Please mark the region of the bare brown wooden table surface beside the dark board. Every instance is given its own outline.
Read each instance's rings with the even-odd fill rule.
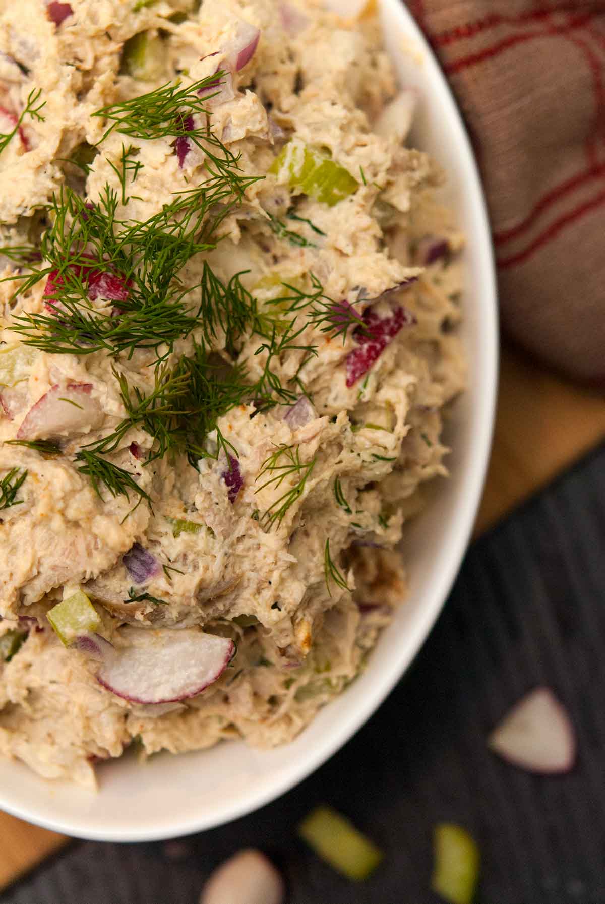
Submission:
[[[506,349],[496,433],[476,534],[605,438],[602,396],[572,386]],[[0,888],[66,839],[0,813]]]

